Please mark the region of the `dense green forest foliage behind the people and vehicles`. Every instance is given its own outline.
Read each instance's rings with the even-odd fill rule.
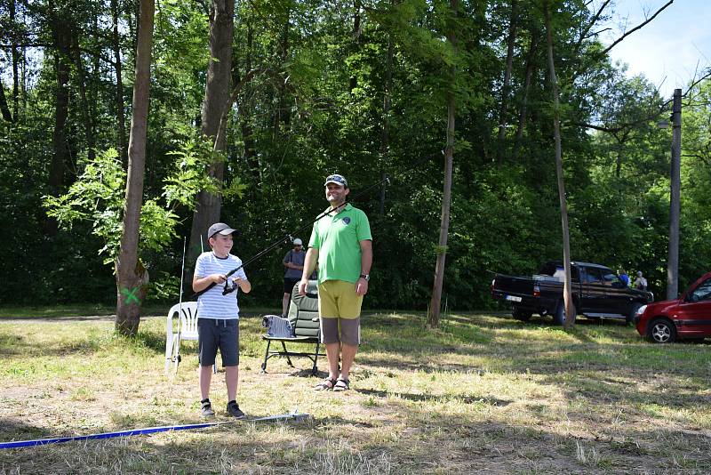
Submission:
[[[644,76],[627,77],[598,40],[613,3],[239,2],[224,153],[215,154],[202,110],[209,18],[226,4],[156,3],[143,189],[151,205],[141,217],[150,235],[140,241],[148,299],[177,302],[183,237],[188,273],[198,246],[189,239],[196,189],[181,183],[223,160],[220,221],[238,229],[233,254],[243,259],[323,211],[327,174],[344,174],[353,194],[392,176],[354,203],[374,237],[365,305],[426,309],[442,252],[448,97],[456,136],[443,305],[491,308],[490,270],[528,273],[562,259],[546,7],[572,259],[643,270],[655,295],[666,294],[671,128],[657,124],[671,103]],[[0,3],[4,304],[116,302],[139,9],[138,0]],[[707,79],[684,89],[680,290],[711,257],[710,96]],[[51,197],[72,190],[94,213],[48,216]],[[173,199],[180,193],[187,199]],[[290,248],[246,269],[254,291],[242,305],[278,307]]]

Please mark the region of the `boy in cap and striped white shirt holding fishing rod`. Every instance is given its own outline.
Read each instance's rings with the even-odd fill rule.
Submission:
[[[237,270],[229,278],[230,270],[242,265],[242,261],[232,250],[232,233],[224,222],[213,224],[207,231],[207,241],[212,252],[200,254],[195,264],[193,291],[200,292],[215,284],[210,290],[197,298],[197,334],[200,360],[200,394],[202,414],[206,417],[215,415],[210,403],[210,382],[212,380],[212,365],[220,348],[222,366],[225,366],[225,383],[228,387],[228,415],[241,418],[244,412],[236,402],[237,379],[239,376],[239,307],[237,292],[241,289],[245,294],[252,290],[252,284],[247,280],[244,270]],[[224,284],[235,293],[222,294]]]

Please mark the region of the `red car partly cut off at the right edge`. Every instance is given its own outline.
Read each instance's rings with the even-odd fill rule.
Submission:
[[[711,272],[676,300],[643,305],[633,321],[637,332],[654,343],[711,336]]]

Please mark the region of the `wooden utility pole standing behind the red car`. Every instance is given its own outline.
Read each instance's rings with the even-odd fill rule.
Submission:
[[[669,198],[669,259],[667,261],[667,300],[673,300],[679,292],[679,214],[681,200],[682,162],[682,90],[674,90],[672,107],[672,161],[671,192]]]

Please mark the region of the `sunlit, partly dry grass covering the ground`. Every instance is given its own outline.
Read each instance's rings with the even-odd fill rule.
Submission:
[[[196,345],[164,375],[163,318],[124,339],[108,318],[18,315],[0,320],[0,441],[202,421]],[[260,318],[243,318],[240,406],[298,407],[310,421],[5,449],[0,473],[704,473],[711,462],[711,345],[653,345],[617,322],[565,333],[451,313],[427,331],[422,314],[375,313],[352,389],[319,393],[306,359],[272,358],[260,374],[261,333]],[[221,372],[212,388],[226,421]]]

